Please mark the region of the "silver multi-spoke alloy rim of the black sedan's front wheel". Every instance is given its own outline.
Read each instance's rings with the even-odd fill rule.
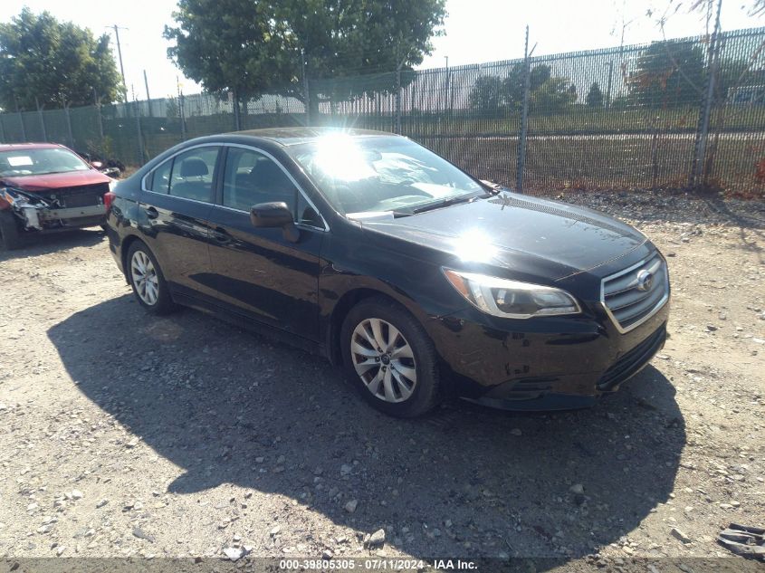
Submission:
[[[359,322],[350,338],[353,367],[364,386],[384,402],[403,402],[415,391],[412,347],[392,324],[381,319]]]

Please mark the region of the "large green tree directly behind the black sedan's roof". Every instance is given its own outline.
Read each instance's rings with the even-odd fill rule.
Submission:
[[[304,100],[303,64],[313,79],[409,71],[431,52],[444,16],[445,0],[179,0],[177,26],[167,26],[165,37],[175,42],[169,57],[207,91]],[[394,89],[395,76],[371,89]],[[320,83],[309,86],[316,110]],[[360,83],[325,83],[324,91],[335,89],[342,97],[370,91]]]

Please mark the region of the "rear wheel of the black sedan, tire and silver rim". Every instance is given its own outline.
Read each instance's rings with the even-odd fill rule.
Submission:
[[[126,263],[133,294],[145,310],[162,315],[177,309],[157,257],[146,244],[140,241],[130,244]]]

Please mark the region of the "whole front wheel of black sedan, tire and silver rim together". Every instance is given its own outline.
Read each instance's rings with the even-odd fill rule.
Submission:
[[[346,375],[380,412],[412,418],[441,403],[444,392],[433,342],[396,302],[359,302],[343,321],[340,344]]]

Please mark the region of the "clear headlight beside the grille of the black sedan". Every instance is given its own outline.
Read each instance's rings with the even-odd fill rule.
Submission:
[[[452,286],[473,306],[492,316],[528,319],[581,312],[579,303],[566,291],[510,281],[485,274],[443,269]]]

